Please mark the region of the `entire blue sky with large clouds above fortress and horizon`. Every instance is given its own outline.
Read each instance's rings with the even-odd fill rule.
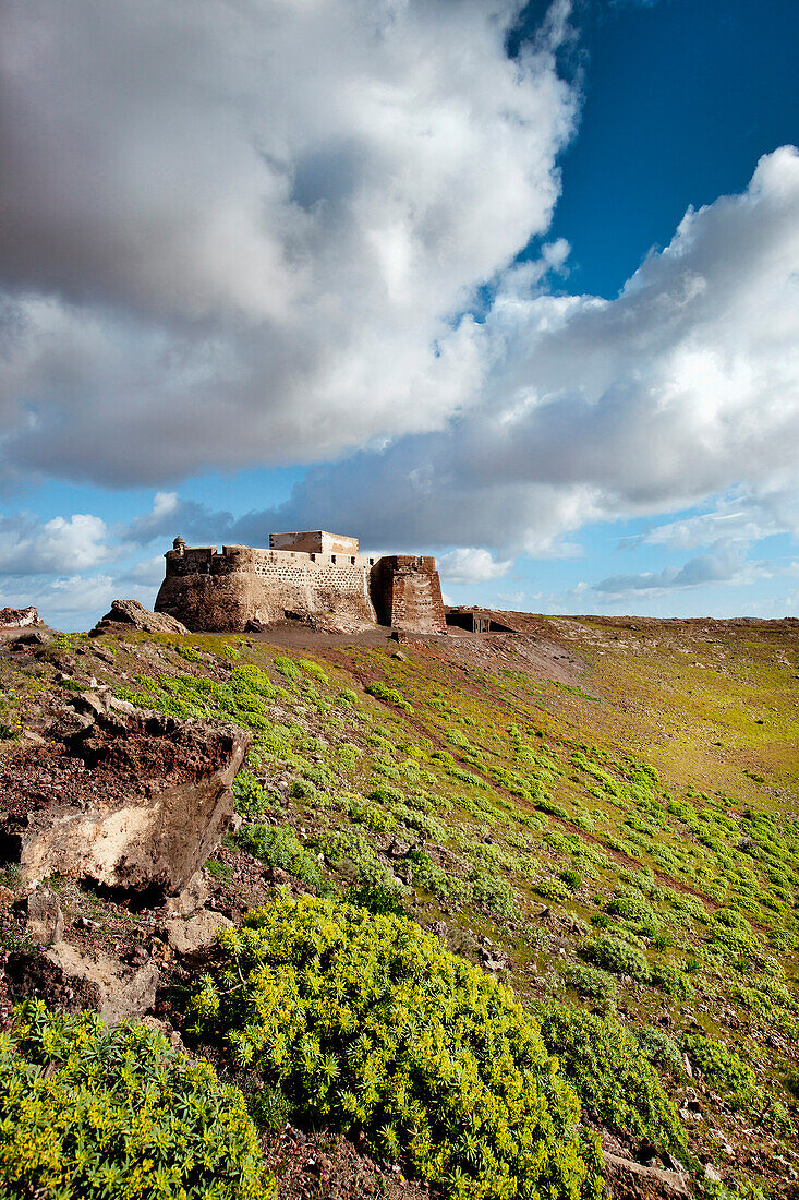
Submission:
[[[799,7],[5,0],[0,607],[328,528],[799,616]]]

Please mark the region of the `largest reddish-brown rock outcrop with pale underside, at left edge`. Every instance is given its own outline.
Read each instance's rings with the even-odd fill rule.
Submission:
[[[233,816],[230,785],[250,734],[109,695],[79,694],[78,704],[83,712],[52,731],[64,744],[0,763],[2,857],[29,880],[65,875],[179,893]]]

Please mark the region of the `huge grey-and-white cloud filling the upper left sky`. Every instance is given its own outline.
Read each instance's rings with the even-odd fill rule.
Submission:
[[[8,0],[0,449],[120,485],[322,460],[471,403],[542,233],[569,5]],[[555,254],[557,258],[557,254]]]

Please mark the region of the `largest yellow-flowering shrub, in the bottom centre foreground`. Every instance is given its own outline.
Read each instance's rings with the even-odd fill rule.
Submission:
[[[452,1200],[601,1195],[596,1144],[535,1019],[414,922],[283,896],[220,942],[197,1032],[311,1120],[360,1128]]]

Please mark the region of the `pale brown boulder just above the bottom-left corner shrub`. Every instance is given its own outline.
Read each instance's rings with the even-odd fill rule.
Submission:
[[[114,1024],[152,1008],[158,968],[152,962],[128,968],[103,950],[82,952],[56,942],[44,954],[10,954],[6,977],[14,1001],[46,997],[71,1013],[94,1008]]]

